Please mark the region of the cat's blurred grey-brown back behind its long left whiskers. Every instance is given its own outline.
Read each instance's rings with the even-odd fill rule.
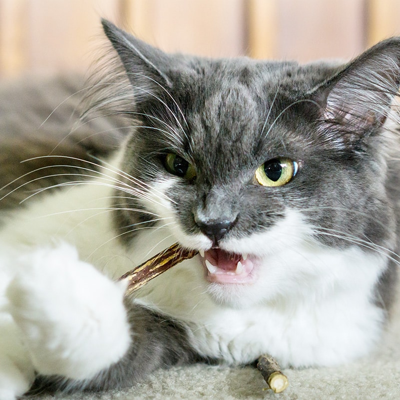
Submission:
[[[86,87],[78,74],[0,82],[0,209],[74,173],[84,178],[85,169],[98,170],[98,159],[118,148],[119,117],[79,121]]]

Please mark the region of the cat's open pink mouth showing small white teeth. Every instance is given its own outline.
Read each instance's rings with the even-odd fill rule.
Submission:
[[[245,284],[254,281],[255,260],[247,254],[234,254],[220,248],[200,252],[209,282]]]

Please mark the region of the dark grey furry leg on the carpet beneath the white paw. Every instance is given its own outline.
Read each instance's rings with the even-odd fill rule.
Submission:
[[[191,348],[186,330],[179,323],[134,303],[126,302],[126,307],[132,327],[132,342],[117,363],[83,381],[40,375],[30,394],[42,393],[43,390],[70,392],[126,388],[159,368],[211,361]]]

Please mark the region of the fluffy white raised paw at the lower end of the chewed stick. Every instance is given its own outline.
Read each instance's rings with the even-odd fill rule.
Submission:
[[[17,263],[7,297],[39,373],[87,379],[124,355],[130,343],[124,284],[79,260],[67,244]]]

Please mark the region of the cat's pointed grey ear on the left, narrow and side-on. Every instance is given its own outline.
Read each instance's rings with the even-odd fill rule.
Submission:
[[[101,23],[122,61],[137,103],[173,86],[169,72],[179,66],[176,57],[139,40],[106,19]]]

